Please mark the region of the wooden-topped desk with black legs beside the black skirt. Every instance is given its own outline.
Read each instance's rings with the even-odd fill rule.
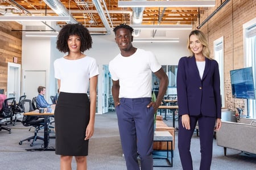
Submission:
[[[44,117],[44,147],[43,148],[31,148],[31,149],[27,149],[32,151],[32,150],[40,150],[40,151],[54,151],[55,148],[49,148],[48,144],[49,144],[49,122],[48,122],[48,118],[54,115],[54,109],[52,109],[51,113],[39,113],[39,110],[35,110],[32,112],[27,112],[24,113],[23,115],[25,116],[40,116],[40,117]]]

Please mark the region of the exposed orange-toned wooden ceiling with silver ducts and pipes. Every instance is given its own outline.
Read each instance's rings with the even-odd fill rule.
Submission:
[[[1,0],[0,0],[1,1]],[[131,5],[135,2],[148,2],[146,0],[130,0]],[[170,0],[173,1],[173,0]],[[201,0],[206,1],[206,0]],[[214,1],[214,0],[210,0]],[[224,1],[224,0],[222,0]],[[228,0],[226,0],[228,1]],[[225,1],[225,2],[226,2]],[[49,23],[56,26],[59,30],[63,25],[67,23],[84,23],[84,25],[90,28],[90,33],[104,33],[109,35],[112,33],[113,28],[121,23],[127,23],[136,26],[142,25],[191,25],[199,21],[198,15],[204,14],[205,7],[119,7],[120,0],[74,0],[74,1],[61,1],[61,0],[5,0],[0,4],[0,14],[2,15],[19,15],[19,16],[42,16],[42,15],[60,15],[59,17],[70,18],[65,22]],[[181,1],[180,1],[181,2]],[[87,8],[85,8],[86,6]],[[103,10],[102,10],[103,9]],[[15,18],[14,18],[15,19]],[[145,21],[144,21],[145,19]],[[42,23],[46,24],[47,20],[42,20]],[[93,23],[92,23],[93,22]],[[22,22],[22,24],[34,24],[28,22]],[[37,24],[37,23],[35,23]],[[50,25],[47,25],[49,28]],[[100,28],[100,29],[98,29]],[[135,28],[135,27],[134,27]],[[51,28],[55,31],[55,28]],[[136,29],[134,35],[147,36],[147,31],[143,29]],[[154,34],[150,34],[151,37],[158,32],[158,29],[154,30]]]

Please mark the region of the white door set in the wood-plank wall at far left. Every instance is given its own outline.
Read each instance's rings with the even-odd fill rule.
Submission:
[[[20,96],[20,64],[8,63],[7,97],[15,97],[19,101]]]

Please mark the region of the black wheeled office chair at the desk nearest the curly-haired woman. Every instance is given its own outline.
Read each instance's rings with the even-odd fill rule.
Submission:
[[[24,99],[24,100],[21,101],[21,103],[22,103],[24,113],[34,111],[34,108],[32,106],[32,101],[30,99]],[[38,116],[23,116],[22,124],[23,124],[23,126],[32,126],[32,127],[34,127],[35,128],[35,133],[34,133],[34,136],[28,137],[26,139],[23,139],[22,141],[19,141],[19,145],[22,145],[22,142],[24,142],[24,141],[30,141],[31,139],[33,139],[30,146],[34,146],[34,142],[37,139],[44,140],[43,137],[38,136],[38,131],[40,129],[43,129],[43,126],[44,126],[44,119],[43,118],[40,118]]]

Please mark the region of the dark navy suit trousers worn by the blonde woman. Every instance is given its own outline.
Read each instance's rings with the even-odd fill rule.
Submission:
[[[184,170],[192,170],[193,163],[190,152],[191,138],[198,121],[200,131],[200,170],[210,170],[212,163],[213,133],[216,122],[215,117],[190,116],[190,130],[183,128],[181,117],[179,119],[178,148],[181,164]]]

